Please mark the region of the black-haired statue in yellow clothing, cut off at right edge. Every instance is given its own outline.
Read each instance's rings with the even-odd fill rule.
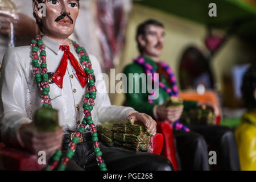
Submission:
[[[241,170],[256,170],[256,66],[252,65],[242,82],[242,97],[247,111],[236,130]]]

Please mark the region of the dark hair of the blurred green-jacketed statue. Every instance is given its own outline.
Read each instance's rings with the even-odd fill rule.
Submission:
[[[143,49],[141,47],[141,45],[139,44],[139,40],[138,37],[140,35],[145,35],[146,34],[146,28],[150,25],[154,25],[154,26],[158,26],[158,27],[164,27],[163,23],[159,22],[158,20],[155,19],[148,19],[145,22],[139,24],[138,28],[137,28],[137,34],[136,34],[136,41],[137,41],[137,46],[139,49],[139,52],[142,53]]]

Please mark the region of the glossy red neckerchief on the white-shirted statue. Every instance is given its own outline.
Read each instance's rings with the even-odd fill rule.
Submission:
[[[69,51],[69,46],[60,46],[60,49],[64,51],[64,55],[60,61],[60,65],[57,68],[56,72],[53,74],[52,79],[55,81],[56,85],[59,86],[59,88],[62,89],[63,87],[63,77],[67,71],[68,66],[68,59],[70,60],[70,63],[72,67],[76,71],[76,76],[82,85],[82,87],[85,86],[87,76],[84,70],[82,69],[79,62],[76,60],[76,57]]]

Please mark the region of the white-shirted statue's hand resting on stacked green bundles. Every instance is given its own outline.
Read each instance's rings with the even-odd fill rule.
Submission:
[[[150,130],[152,135],[156,134],[156,122],[155,120],[145,113],[132,113],[127,119],[131,119],[131,123],[134,125],[143,124],[146,130]]]

